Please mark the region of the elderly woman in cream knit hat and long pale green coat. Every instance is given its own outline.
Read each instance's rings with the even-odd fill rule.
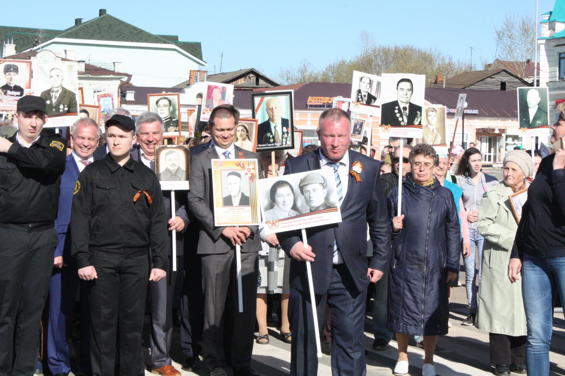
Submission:
[[[532,157],[521,150],[511,151],[504,158],[503,169],[503,183],[489,188],[479,206],[477,229],[485,243],[475,326],[489,333],[490,364],[495,366],[495,374],[510,375],[510,371],[526,373],[526,317],[521,281],[512,284],[507,277],[518,229],[509,196],[528,187]]]

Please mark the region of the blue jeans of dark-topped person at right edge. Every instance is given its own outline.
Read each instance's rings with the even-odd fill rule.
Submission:
[[[524,254],[522,297],[528,324],[528,374],[549,374],[549,343],[553,332],[555,297],[565,297],[565,257],[542,259]]]

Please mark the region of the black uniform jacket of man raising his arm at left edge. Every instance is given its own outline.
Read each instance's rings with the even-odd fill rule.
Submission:
[[[67,157],[65,140],[41,135],[24,148],[16,134],[8,138],[13,143],[8,152],[0,153],[0,225],[18,224],[28,232],[52,228]]]

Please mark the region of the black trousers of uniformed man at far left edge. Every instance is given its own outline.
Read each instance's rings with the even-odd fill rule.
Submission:
[[[0,376],[33,374],[56,246],[54,228],[0,228]]]

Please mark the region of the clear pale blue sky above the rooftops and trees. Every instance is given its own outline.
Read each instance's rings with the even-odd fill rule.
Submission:
[[[564,1],[564,0],[558,0]],[[553,10],[554,0],[540,0],[538,15]],[[94,5],[95,4],[95,5]],[[206,6],[211,6],[206,8]],[[438,47],[456,59],[492,61],[494,26],[506,12],[533,19],[535,0],[475,1],[98,1],[6,2],[0,25],[66,29],[75,18],[98,16],[99,8],[154,34],[178,35],[202,42],[207,70],[255,68],[275,76],[302,59],[324,68],[359,51],[359,35],[367,30],[377,44]],[[541,18],[540,18],[541,20]],[[17,46],[16,46],[17,48]],[[417,56],[415,56],[417,58]],[[107,61],[105,63],[110,63]],[[380,72],[374,72],[380,73]]]

